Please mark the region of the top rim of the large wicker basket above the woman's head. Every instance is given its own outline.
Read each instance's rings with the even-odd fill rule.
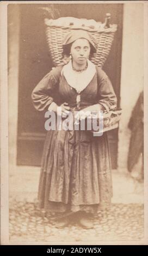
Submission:
[[[79,19],[81,20],[81,19]],[[47,27],[52,27],[52,28],[61,28],[61,29],[82,29],[84,31],[88,31],[88,32],[105,32],[105,33],[109,33],[109,32],[116,32],[117,30],[117,25],[116,24],[112,24],[110,25],[109,28],[104,28],[104,27],[101,27],[99,29],[96,29],[96,28],[91,28],[91,27],[88,27],[88,26],[75,26],[75,25],[65,25],[65,26],[56,26],[54,24],[51,24],[51,21],[53,21],[53,19],[44,19],[44,22],[45,22],[45,25]],[[101,22],[97,22],[99,25],[104,25],[104,23],[101,23]]]

